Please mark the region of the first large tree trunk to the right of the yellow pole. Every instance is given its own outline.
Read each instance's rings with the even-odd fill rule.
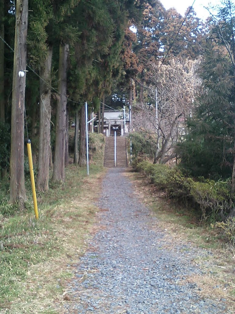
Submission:
[[[38,152],[38,176],[37,189],[47,191],[49,189],[50,169],[50,119],[51,119],[51,61],[52,48],[49,47],[44,65],[40,69],[40,124],[39,124],[39,152]],[[46,84],[46,83],[48,84]]]

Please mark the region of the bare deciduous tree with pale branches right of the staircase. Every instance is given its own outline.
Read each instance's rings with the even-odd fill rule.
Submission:
[[[187,132],[186,118],[191,116],[200,83],[196,75],[199,62],[175,57],[160,68],[151,62],[150,84],[145,85],[148,103],[135,105],[133,127],[156,134],[154,162],[165,163],[176,157],[173,148]]]

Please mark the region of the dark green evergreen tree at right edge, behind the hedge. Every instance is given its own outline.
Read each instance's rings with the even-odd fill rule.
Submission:
[[[194,176],[231,176],[234,134],[233,69],[227,51],[208,43],[200,67],[201,96],[178,144],[181,167]]]

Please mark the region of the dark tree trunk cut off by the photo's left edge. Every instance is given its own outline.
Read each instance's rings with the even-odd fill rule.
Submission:
[[[4,39],[4,0],[0,0],[0,36]],[[5,123],[4,42],[0,40],[0,121]]]

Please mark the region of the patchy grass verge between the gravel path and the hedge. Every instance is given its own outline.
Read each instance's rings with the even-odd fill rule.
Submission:
[[[210,225],[202,224],[199,214],[185,211],[185,208],[168,200],[145,176],[132,171],[126,176],[133,182],[135,196],[158,218],[153,229],[156,232],[165,230],[164,248],[174,250],[177,245],[186,244],[185,250],[198,248],[200,251],[196,258],[192,256],[192,263],[203,273],[189,276],[186,281],[196,283],[202,298],[213,295],[225,302],[231,313],[235,313],[234,246],[229,245],[224,236]]]

